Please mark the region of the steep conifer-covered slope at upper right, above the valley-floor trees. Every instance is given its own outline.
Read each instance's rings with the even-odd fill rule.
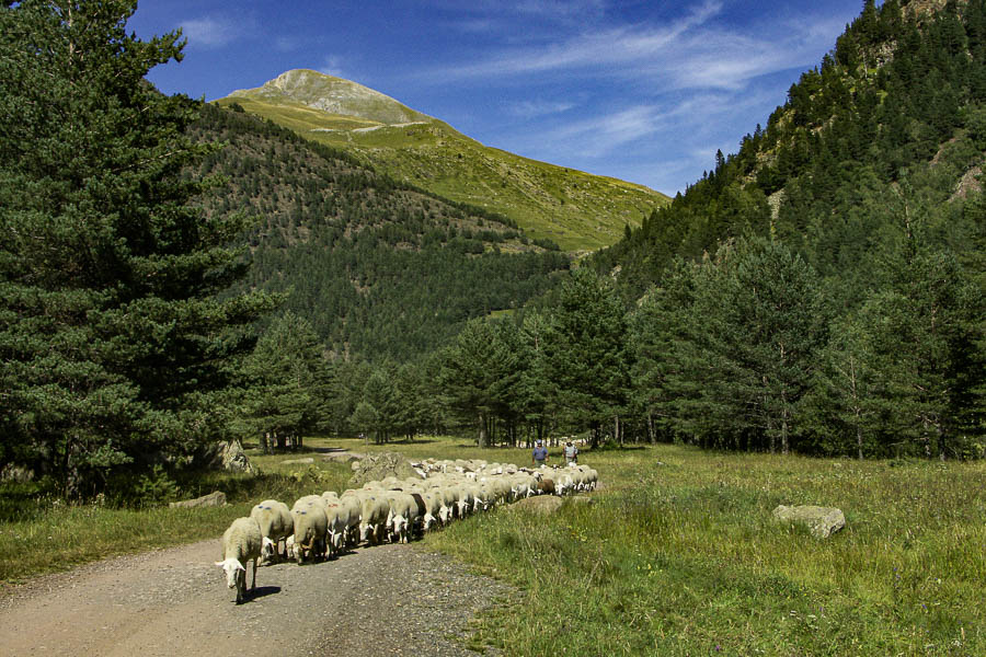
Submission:
[[[905,215],[963,257],[982,252],[982,221],[961,201],[979,189],[986,150],[986,14],[979,0],[936,4],[865,2],[766,129],[720,152],[598,267],[619,265],[639,296],[675,256],[770,233],[858,297]]]

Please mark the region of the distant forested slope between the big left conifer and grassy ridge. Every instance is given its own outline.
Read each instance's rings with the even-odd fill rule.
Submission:
[[[199,138],[226,142],[199,171],[226,184],[202,203],[257,218],[244,285],[289,292],[285,308],[335,354],[411,359],[470,318],[523,306],[569,266],[509,219],[394,183],[254,116],[202,113]]]

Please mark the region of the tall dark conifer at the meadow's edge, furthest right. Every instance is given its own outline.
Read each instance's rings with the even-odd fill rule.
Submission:
[[[930,247],[919,220],[890,256],[887,287],[864,307],[874,334],[883,403],[907,447],[961,457],[982,434],[986,304],[954,254]]]

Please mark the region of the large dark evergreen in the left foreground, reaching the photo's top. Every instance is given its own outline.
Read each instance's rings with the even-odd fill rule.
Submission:
[[[206,217],[182,170],[185,97],[144,79],[179,33],[126,33],[134,0],[0,7],[0,422],[4,457],[68,494],[121,465],[223,436],[243,330],[271,307],[219,300],[242,217]]]

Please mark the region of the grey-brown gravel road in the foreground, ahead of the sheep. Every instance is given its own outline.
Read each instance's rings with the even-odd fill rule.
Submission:
[[[237,606],[218,553],[215,539],[16,587],[0,597],[0,655],[475,655],[462,643],[469,619],[516,596],[395,544],[261,567],[250,601]]]

